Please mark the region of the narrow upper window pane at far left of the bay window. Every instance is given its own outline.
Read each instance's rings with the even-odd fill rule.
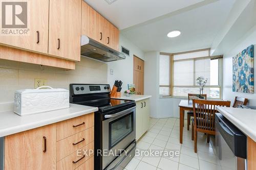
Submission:
[[[168,55],[160,55],[159,59],[159,85],[169,85],[169,64],[170,57]]]

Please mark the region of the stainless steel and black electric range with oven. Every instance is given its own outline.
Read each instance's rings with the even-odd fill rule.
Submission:
[[[135,101],[110,98],[108,84],[70,84],[70,103],[98,107],[94,169],[119,170],[135,155]]]

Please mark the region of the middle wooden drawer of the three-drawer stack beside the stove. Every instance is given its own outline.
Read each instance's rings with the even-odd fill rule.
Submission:
[[[94,141],[94,127],[57,142],[57,161]]]

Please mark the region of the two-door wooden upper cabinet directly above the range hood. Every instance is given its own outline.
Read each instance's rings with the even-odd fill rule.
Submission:
[[[119,30],[82,1],[81,34],[119,50]]]

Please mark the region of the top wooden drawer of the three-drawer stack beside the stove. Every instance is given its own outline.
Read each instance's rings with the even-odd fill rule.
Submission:
[[[94,126],[94,113],[57,123],[57,141]]]

